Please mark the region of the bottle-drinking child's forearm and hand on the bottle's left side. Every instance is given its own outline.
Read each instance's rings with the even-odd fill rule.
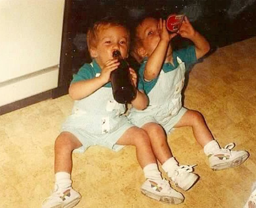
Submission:
[[[120,63],[117,59],[109,60],[101,70],[101,75],[93,79],[77,81],[69,86],[69,96],[73,100],[80,100],[91,95],[104,84],[109,82],[110,73],[115,70]]]

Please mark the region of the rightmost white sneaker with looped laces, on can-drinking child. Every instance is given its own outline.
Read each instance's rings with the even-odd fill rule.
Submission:
[[[209,165],[214,171],[236,167],[249,157],[249,153],[244,150],[232,151],[234,143],[226,145],[224,148],[221,148],[217,153],[210,154]]]

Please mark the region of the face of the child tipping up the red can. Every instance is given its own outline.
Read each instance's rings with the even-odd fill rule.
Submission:
[[[158,20],[146,18],[136,29],[137,36],[142,41],[145,56],[150,56],[160,41]]]

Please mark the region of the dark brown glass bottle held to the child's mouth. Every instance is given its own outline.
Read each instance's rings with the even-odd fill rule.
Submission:
[[[122,58],[120,51],[113,51],[113,58],[120,62],[110,75],[114,99],[118,103],[130,103],[137,91],[131,79],[129,64]]]

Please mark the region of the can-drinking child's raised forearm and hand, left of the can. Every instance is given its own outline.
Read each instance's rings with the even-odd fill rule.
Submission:
[[[144,71],[144,79],[147,81],[155,79],[162,69],[163,62],[166,57],[166,51],[169,46],[170,39],[176,36],[176,33],[169,34],[166,29],[166,21],[159,19],[158,23],[158,32],[160,35],[160,41],[152,52],[152,54],[148,57],[148,61],[145,66]],[[152,34],[155,35],[155,34]]]

